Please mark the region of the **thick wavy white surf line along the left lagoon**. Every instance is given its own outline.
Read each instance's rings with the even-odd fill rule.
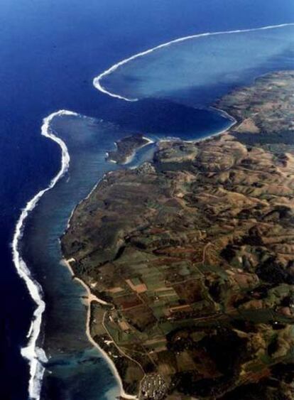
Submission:
[[[39,400],[40,399],[40,390],[43,379],[43,374],[45,368],[43,367],[43,363],[47,361],[47,357],[42,348],[37,346],[38,336],[40,334],[40,325],[42,322],[42,315],[45,310],[45,302],[43,301],[43,290],[33,276],[31,275],[31,271],[28,269],[25,261],[21,256],[20,250],[20,242],[23,237],[23,227],[26,222],[26,218],[30,214],[30,212],[36,207],[38,201],[43,196],[45,192],[52,189],[55,184],[60,180],[62,175],[65,174],[69,165],[70,165],[70,154],[67,151],[67,146],[62,139],[55,136],[53,132],[50,130],[50,122],[54,117],[59,115],[75,115],[75,112],[70,112],[67,110],[60,110],[58,112],[53,112],[48,117],[43,119],[43,125],[41,128],[41,134],[43,136],[48,137],[49,139],[55,141],[61,148],[62,151],[62,159],[61,159],[61,168],[55,178],[50,181],[48,188],[40,190],[27,204],[26,207],[22,210],[20,217],[18,218],[18,222],[16,223],[16,228],[13,234],[12,241],[12,255],[13,255],[13,263],[16,266],[16,271],[18,275],[25,281],[28,291],[33,298],[33,301],[36,303],[36,310],[33,313],[33,319],[31,322],[31,327],[28,330],[28,345],[21,349],[21,355],[28,360],[29,368],[30,368],[30,380],[28,382],[28,396],[31,400]]]

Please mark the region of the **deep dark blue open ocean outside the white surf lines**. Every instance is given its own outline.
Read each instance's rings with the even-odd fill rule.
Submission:
[[[93,77],[121,59],[180,36],[290,21],[291,0],[1,1],[1,398],[27,399],[28,369],[19,350],[26,343],[33,304],[11,262],[10,243],[21,207],[60,168],[60,148],[40,136],[43,117],[65,108],[126,128],[163,129],[170,123],[170,110],[174,116],[173,107],[154,107],[153,102],[126,106],[97,92]],[[189,131],[195,121],[187,125]],[[202,119],[204,131],[214,128]],[[173,129],[169,126],[165,133]]]

